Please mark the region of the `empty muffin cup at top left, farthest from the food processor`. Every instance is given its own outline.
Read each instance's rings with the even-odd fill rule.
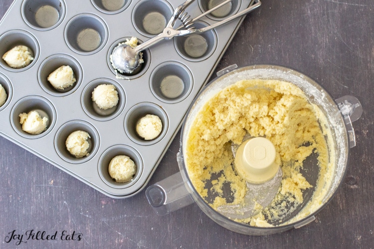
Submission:
[[[36,30],[50,30],[65,17],[63,0],[24,0],[21,7],[23,20]]]

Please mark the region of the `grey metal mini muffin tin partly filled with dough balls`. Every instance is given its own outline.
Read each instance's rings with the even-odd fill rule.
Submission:
[[[248,7],[250,0],[233,0],[226,9],[195,23],[211,25]],[[110,63],[113,48],[126,38],[144,42],[163,30],[180,0],[15,0],[0,21],[0,56],[15,45],[26,45],[34,60],[10,68],[0,60],[0,84],[7,100],[0,107],[0,134],[71,174],[98,191],[126,198],[147,184],[189,105],[210,78],[242,19],[199,36],[175,37],[143,51],[141,70],[116,78]],[[187,12],[192,17],[207,10],[208,0],[196,0]],[[223,15],[223,16],[220,16]],[[177,23],[178,24],[178,23]],[[180,25],[180,23],[178,24]],[[76,83],[56,90],[48,75],[69,65]],[[119,103],[108,112],[95,108],[91,94],[100,84],[113,84]],[[24,132],[20,113],[37,110],[49,118],[38,135]],[[160,117],[161,134],[146,141],[136,133],[137,121]],[[75,158],[65,147],[74,130],[85,130],[89,155]],[[109,176],[110,160],[119,154],[136,164],[134,178],[117,183]]]

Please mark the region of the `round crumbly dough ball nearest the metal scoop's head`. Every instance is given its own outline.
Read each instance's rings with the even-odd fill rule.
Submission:
[[[104,110],[115,107],[118,104],[118,100],[116,87],[111,84],[99,85],[92,92],[92,101]]]

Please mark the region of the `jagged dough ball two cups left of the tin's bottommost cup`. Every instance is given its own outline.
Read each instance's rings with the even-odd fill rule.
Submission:
[[[31,111],[29,113],[19,114],[19,123],[22,124],[22,130],[37,135],[46,130],[48,124],[48,118],[41,118],[37,111]]]

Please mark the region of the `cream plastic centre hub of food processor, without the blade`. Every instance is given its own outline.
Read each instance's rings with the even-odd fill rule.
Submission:
[[[236,151],[235,167],[245,181],[260,184],[272,179],[279,169],[274,144],[265,137],[244,141]]]

